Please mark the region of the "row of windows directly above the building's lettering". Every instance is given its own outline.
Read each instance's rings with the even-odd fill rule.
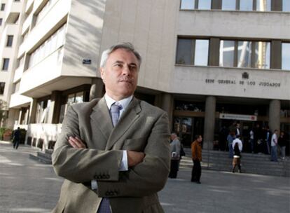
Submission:
[[[270,69],[271,43],[220,40],[220,67]],[[209,39],[178,39],[176,64],[207,66]],[[282,69],[290,70],[290,43],[282,43]]]

